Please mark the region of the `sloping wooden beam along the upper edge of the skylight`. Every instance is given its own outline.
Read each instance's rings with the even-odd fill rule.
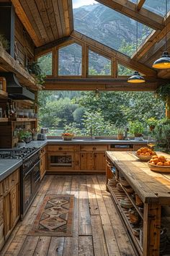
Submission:
[[[147,9],[137,10],[136,4],[128,0],[97,0],[100,4],[114,9],[117,12],[137,20],[153,30],[162,30],[164,28],[164,18]]]

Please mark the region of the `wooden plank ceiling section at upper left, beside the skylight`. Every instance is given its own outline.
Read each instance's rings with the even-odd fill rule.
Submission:
[[[63,38],[73,30],[71,0],[12,0],[12,3],[35,46]]]

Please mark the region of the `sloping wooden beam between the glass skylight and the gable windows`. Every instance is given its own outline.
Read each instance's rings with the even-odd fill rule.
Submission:
[[[73,31],[73,33],[71,33],[71,38],[76,38],[76,40],[79,40],[81,43],[86,43],[88,46],[91,46],[92,48],[96,49],[96,51],[99,50],[103,52],[103,54],[106,56],[115,57],[117,61],[123,63],[126,67],[135,69],[148,76],[157,76],[157,72],[155,70],[146,67],[145,65],[140,64],[138,61],[130,59],[129,56],[121,54],[119,51],[109,48],[108,46],[104,46],[102,43],[99,43],[98,41],[91,39],[86,35],[83,35],[75,30]]]

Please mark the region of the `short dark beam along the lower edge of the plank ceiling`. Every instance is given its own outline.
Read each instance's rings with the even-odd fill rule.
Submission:
[[[39,47],[35,48],[35,56],[37,57],[42,54],[45,54],[46,52],[50,51],[50,49],[52,49],[53,47],[59,46],[62,43],[68,42],[69,40],[71,40],[70,36],[65,36],[63,38],[53,40],[50,43],[46,43],[43,46],[39,46]]]

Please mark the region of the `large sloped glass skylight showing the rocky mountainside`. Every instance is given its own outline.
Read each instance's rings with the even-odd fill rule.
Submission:
[[[117,51],[131,56],[136,51],[137,22],[97,1],[77,5],[73,0],[74,29]],[[90,0],[88,0],[88,3]],[[138,46],[153,30],[138,22]]]

